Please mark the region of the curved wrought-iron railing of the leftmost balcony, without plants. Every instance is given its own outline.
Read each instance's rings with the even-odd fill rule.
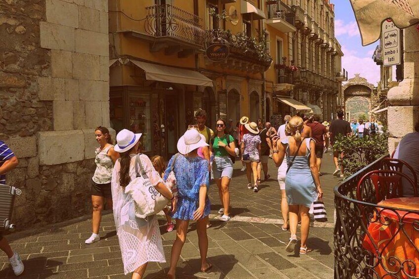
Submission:
[[[203,45],[203,19],[172,5],[146,7],[145,31],[156,38],[173,38]]]

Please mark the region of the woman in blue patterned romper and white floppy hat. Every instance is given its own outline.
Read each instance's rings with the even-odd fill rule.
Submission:
[[[186,241],[190,220],[197,222],[198,246],[201,254],[201,272],[207,272],[212,265],[207,261],[208,237],[207,223],[210,215],[210,199],[207,189],[210,184],[208,160],[198,156],[197,150],[207,146],[205,137],[195,129],[189,129],[177,142],[180,155],[168,163],[167,179],[174,161],[173,172],[177,181],[176,239],[171,248],[168,278],[176,278],[176,265]]]

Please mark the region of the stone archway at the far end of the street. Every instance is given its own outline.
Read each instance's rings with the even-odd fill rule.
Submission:
[[[354,78],[348,80],[342,88],[346,120],[358,120],[362,114],[370,118],[373,90],[374,85],[359,74],[355,74]]]

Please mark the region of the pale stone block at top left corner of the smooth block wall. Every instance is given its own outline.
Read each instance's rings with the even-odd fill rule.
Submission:
[[[46,0],[46,20],[70,27],[79,27],[78,6],[68,1]]]

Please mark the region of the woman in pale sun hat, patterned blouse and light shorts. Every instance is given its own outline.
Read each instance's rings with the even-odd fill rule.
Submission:
[[[249,133],[243,136],[240,148],[242,150],[242,159],[246,163],[246,175],[249,182],[248,188],[253,189],[253,192],[257,193],[259,191],[257,187],[257,164],[260,161],[261,151],[259,129],[255,122],[247,123],[245,127]],[[253,187],[251,186],[251,172],[253,172]]]

